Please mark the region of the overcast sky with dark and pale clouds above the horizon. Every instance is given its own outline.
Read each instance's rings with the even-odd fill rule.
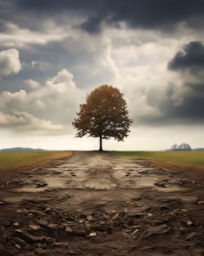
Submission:
[[[104,149],[204,147],[203,0],[0,0],[0,148],[98,149],[71,121],[117,86],[133,125]]]

